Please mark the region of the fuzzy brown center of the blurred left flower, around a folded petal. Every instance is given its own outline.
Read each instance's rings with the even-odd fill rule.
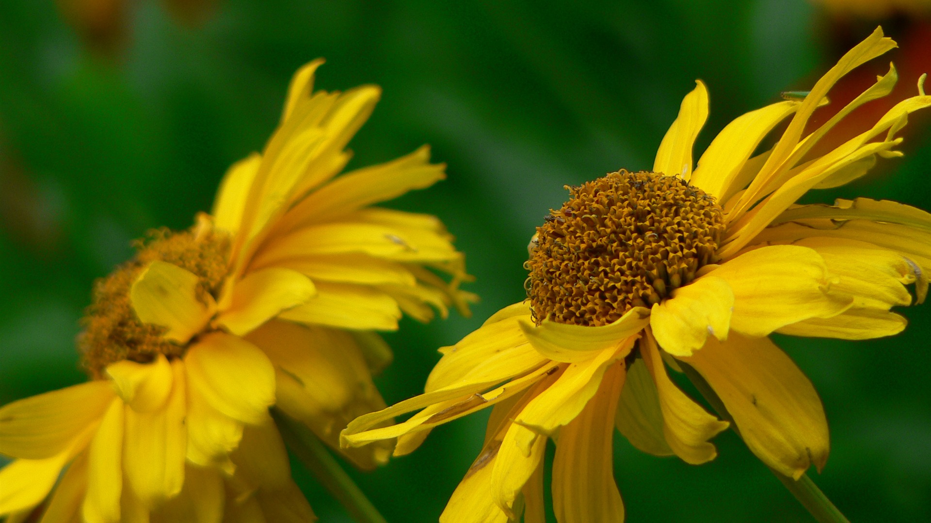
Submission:
[[[228,272],[230,237],[209,224],[200,223],[187,231],[150,231],[135,242],[136,257],[94,284],[93,298],[78,336],[81,364],[91,378],[99,379],[111,363],[128,359],[147,363],[162,354],[182,356],[186,345],[162,337],[164,327],[142,323],[129,298],[129,291],[142,270],[151,262],[173,263],[197,275],[197,295],[218,297]]]

